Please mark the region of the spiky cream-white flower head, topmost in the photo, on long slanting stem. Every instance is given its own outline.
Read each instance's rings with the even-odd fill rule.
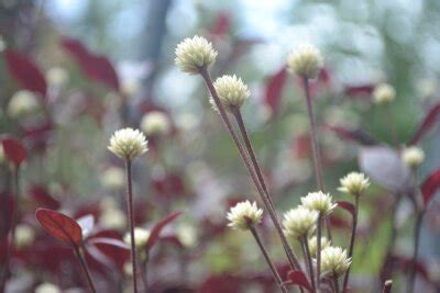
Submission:
[[[176,47],[176,65],[190,75],[199,74],[202,67],[212,65],[216,58],[217,52],[212,44],[202,36],[187,37]]]

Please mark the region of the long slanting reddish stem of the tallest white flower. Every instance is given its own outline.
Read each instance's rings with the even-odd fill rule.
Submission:
[[[211,80],[211,77],[210,77],[208,70],[205,67],[200,68],[200,75],[204,78],[204,80],[205,80],[205,82],[206,82],[206,84],[208,87],[208,90],[212,95],[212,99],[213,99],[213,101],[215,101],[215,103],[216,103],[216,105],[217,105],[217,108],[219,110],[220,116],[221,116],[221,119],[222,119],[222,121],[223,121],[229,134],[231,135],[232,140],[235,144],[237,149],[239,150],[240,157],[242,158],[242,160],[243,160],[243,162],[244,162],[244,165],[245,165],[245,167],[246,167],[246,169],[248,169],[248,171],[249,171],[249,173],[250,173],[250,176],[252,178],[252,181],[254,182],[254,184],[255,184],[255,187],[256,187],[256,189],[258,191],[258,194],[262,198],[263,203],[266,206],[266,210],[267,210],[267,212],[268,212],[268,214],[271,216],[271,219],[274,223],[275,229],[276,229],[276,232],[278,233],[278,235],[280,237],[280,240],[283,243],[284,250],[286,251],[287,259],[289,261],[290,267],[294,270],[301,270],[301,268],[299,266],[299,262],[298,262],[294,251],[292,250],[292,247],[289,246],[286,236],[283,233],[283,228],[282,228],[282,226],[279,224],[279,219],[276,216],[274,209],[272,209],[272,204],[270,202],[268,195],[263,191],[263,189],[262,189],[262,187],[261,187],[261,184],[260,184],[260,182],[257,180],[257,177],[256,177],[256,174],[254,172],[254,169],[251,167],[251,162],[250,162],[250,160],[248,158],[248,155],[244,153],[243,146],[241,145],[241,143],[240,143],[240,140],[239,140],[239,138],[238,138],[238,136],[237,136],[237,134],[235,134],[235,132],[234,132],[234,129],[232,127],[232,124],[231,124],[231,122],[230,122],[230,120],[228,117],[228,114],[226,113],[226,110],[224,110],[223,105],[220,102],[220,98],[217,94],[216,88],[212,84],[212,80]]]

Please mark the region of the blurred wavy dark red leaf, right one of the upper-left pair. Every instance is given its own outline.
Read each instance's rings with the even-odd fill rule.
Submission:
[[[87,77],[119,91],[117,71],[107,57],[89,52],[79,41],[68,37],[62,40],[62,46],[73,55]]]

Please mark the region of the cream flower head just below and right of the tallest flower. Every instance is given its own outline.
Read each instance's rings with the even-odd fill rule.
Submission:
[[[240,108],[251,94],[248,86],[235,75],[219,77],[213,82],[213,87],[216,88],[221,104],[228,111],[231,111],[233,108]],[[210,101],[213,109],[217,110],[212,97]]]

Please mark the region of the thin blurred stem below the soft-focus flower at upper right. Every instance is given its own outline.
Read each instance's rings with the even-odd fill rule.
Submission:
[[[323,176],[322,176],[322,161],[321,155],[319,151],[318,145],[318,131],[315,122],[314,116],[314,105],[311,104],[311,95],[310,95],[310,87],[309,87],[309,79],[307,77],[302,78],[304,91],[306,95],[306,104],[307,104],[307,116],[309,117],[309,125],[310,125],[310,142],[311,142],[311,153],[314,157],[314,166],[315,166],[315,176],[317,180],[317,187],[320,191],[326,192],[326,187],[323,183]],[[326,217],[326,227],[327,227],[327,237],[329,241],[332,241],[331,229],[330,229],[330,218]]]

